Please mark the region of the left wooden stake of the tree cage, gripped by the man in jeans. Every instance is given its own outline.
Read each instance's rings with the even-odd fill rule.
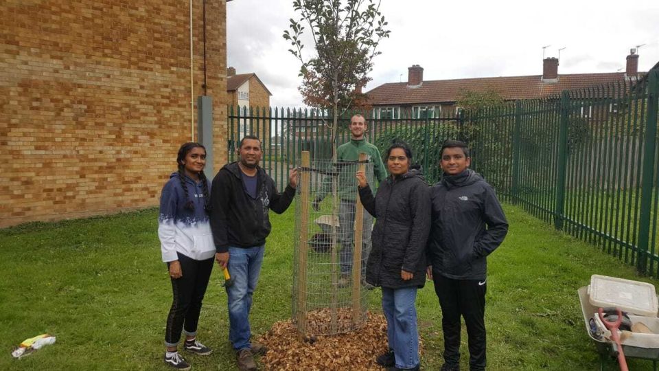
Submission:
[[[302,151],[302,168],[300,169],[300,240],[299,261],[297,265],[298,275],[298,303],[297,303],[297,328],[304,335],[307,325],[307,256],[308,225],[309,225],[309,193],[311,188],[310,169],[311,161],[309,151]]]

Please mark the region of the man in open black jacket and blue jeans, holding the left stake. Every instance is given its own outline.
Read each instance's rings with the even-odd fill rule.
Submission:
[[[256,370],[253,355],[264,346],[250,342],[249,311],[259,280],[266,237],[270,234],[268,211],[286,211],[295,196],[297,170],[290,172],[288,186],[277,193],[275,181],[259,167],[261,141],[247,135],[238,148],[240,161],[225,165],[211,187],[211,230],[216,261],[227,267],[233,284],[227,287],[229,341],[240,370]]]

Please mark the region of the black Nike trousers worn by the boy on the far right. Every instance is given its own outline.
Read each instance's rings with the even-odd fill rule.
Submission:
[[[485,370],[485,280],[453,280],[432,272],[435,293],[441,306],[444,362],[460,363],[460,317],[465,318],[470,370]]]

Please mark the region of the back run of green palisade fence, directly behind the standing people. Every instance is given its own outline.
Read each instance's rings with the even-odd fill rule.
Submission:
[[[244,135],[256,135],[262,139],[264,157],[261,165],[283,189],[288,172],[298,164],[302,150],[309,150],[314,159],[331,159],[332,142],[329,126],[331,115],[317,109],[280,109],[255,107],[228,107],[227,148],[229,162],[236,161],[235,149]],[[454,111],[435,117],[411,117],[405,112],[395,117],[373,118],[373,111],[347,111],[339,117],[337,146],[349,141],[347,128],[350,117],[360,114],[366,117],[367,139],[384,153],[396,139],[412,146],[415,163],[424,166],[430,182],[441,177],[439,171],[439,146],[446,139],[464,139],[461,135],[463,117]],[[277,134],[277,135],[275,135]]]

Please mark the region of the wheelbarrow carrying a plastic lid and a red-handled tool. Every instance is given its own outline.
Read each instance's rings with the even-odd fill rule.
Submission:
[[[593,306],[588,300],[588,286],[583,286],[579,290],[579,302],[581,302],[581,313],[583,315],[583,324],[586,326],[586,333],[592,339],[600,355],[599,369],[604,370],[605,361],[607,358],[618,357],[618,348],[615,341],[607,339],[605,334],[596,333],[592,331],[592,321],[594,313],[599,312],[599,307]],[[639,316],[630,315],[632,322]],[[659,319],[654,319],[656,323],[652,326],[659,326]],[[655,333],[658,333],[656,331]],[[631,333],[627,333],[629,335]],[[647,336],[646,336],[647,335]],[[649,359],[652,361],[654,370],[657,371],[657,361],[659,361],[659,335],[650,334],[636,334],[632,336],[623,336],[622,341],[623,352],[625,358],[639,358]]]

